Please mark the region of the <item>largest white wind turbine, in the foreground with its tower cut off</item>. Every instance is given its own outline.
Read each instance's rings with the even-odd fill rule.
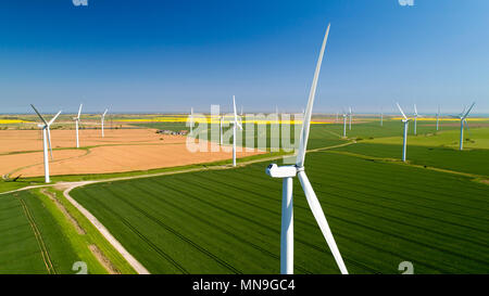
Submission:
[[[305,150],[308,147],[309,130],[311,126],[311,115],[314,104],[314,96],[316,93],[317,78],[319,76],[321,64],[323,62],[324,50],[326,48],[326,42],[328,39],[329,25],[326,29],[326,34],[323,40],[323,46],[321,48],[319,57],[317,60],[316,69],[314,73],[314,78],[311,87],[311,92],[309,94],[308,107],[305,108],[305,117],[302,123],[302,130],[299,143],[299,153],[297,155],[294,166],[281,166],[278,167],[276,164],[271,164],[266,168],[266,173],[273,178],[281,178],[284,181],[283,185],[283,203],[281,203],[281,231],[280,231],[280,273],[292,274],[293,273],[293,209],[292,209],[292,178],[296,175],[299,177],[302,189],[304,190],[305,198],[308,204],[316,219],[317,224],[323,232],[326,243],[335,257],[336,263],[338,265],[342,274],[348,274],[347,267],[344,266],[341,254],[339,253],[338,246],[336,245],[335,239],[333,237],[331,230],[329,229],[326,217],[321,207],[319,201],[304,171],[304,159]]]

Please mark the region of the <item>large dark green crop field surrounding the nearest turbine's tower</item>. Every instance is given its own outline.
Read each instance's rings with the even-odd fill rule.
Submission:
[[[312,137],[322,141],[337,132],[335,126],[315,128]],[[368,128],[360,126],[358,137],[368,137]],[[397,127],[388,128],[392,134],[371,137],[399,134]],[[415,273],[487,272],[487,184],[372,159],[363,150],[367,145],[306,156],[308,175],[349,271],[399,273],[399,263],[411,261]],[[361,155],[342,154],[349,149]],[[281,181],[265,175],[266,165],[92,184],[71,195],[150,272],[276,273]],[[294,189],[296,272],[338,273],[297,181]]]

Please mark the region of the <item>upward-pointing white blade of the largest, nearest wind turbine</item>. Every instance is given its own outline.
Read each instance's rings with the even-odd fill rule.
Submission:
[[[319,51],[319,57],[317,59],[316,69],[314,72],[314,78],[313,78],[313,82],[311,86],[311,91],[309,93],[309,101],[308,101],[308,106],[305,108],[304,120],[302,121],[302,131],[301,131],[301,137],[300,137],[300,142],[299,142],[299,153],[298,153],[297,159],[296,159],[296,165],[298,167],[304,166],[305,150],[308,149],[309,129],[311,127],[311,116],[312,116],[312,110],[313,110],[313,105],[314,105],[314,98],[316,95],[317,79],[319,78],[321,64],[323,63],[324,50],[325,50],[326,43],[328,41],[329,27],[330,27],[330,24],[328,24],[328,27],[326,28],[326,34],[324,35],[323,44],[322,44],[321,51]]]

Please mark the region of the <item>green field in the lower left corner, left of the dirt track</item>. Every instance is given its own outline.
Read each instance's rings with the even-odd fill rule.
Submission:
[[[38,191],[0,195],[0,274],[75,273],[77,261],[87,263],[88,273],[134,272],[79,215],[68,221],[68,211],[60,211],[60,204],[48,197],[51,194],[55,196]],[[111,258],[112,270],[96,258],[93,246],[97,254]]]

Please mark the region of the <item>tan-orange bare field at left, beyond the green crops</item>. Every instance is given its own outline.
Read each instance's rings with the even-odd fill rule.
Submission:
[[[52,130],[54,150],[50,173],[83,175],[148,170],[229,159],[231,152],[196,152],[186,147],[186,137],[162,136],[154,129],[80,130],[77,150],[74,130]],[[36,177],[43,175],[42,140],[39,130],[0,131],[0,173]],[[209,146],[209,144],[206,144]],[[33,152],[35,151],[35,152]],[[210,151],[210,149],[209,149]],[[262,152],[238,152],[237,156]]]

